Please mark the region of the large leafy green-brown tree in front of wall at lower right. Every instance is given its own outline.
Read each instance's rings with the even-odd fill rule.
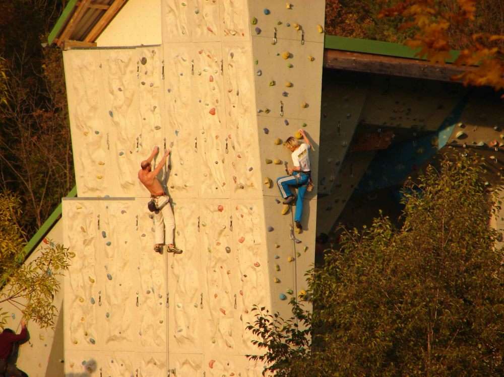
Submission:
[[[488,226],[498,190],[481,163],[445,158],[409,179],[399,229],[379,217],[344,230],[309,272],[311,318],[295,301],[290,321],[256,315],[256,358],[293,377],[504,375],[504,250]]]

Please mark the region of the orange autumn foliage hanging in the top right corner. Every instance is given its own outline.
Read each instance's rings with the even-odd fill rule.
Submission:
[[[406,45],[419,49],[419,57],[444,63],[451,58],[451,50],[460,49],[454,63],[477,68],[460,74],[456,80],[465,85],[504,89],[501,1],[400,0],[385,8],[381,16],[404,18],[401,30],[414,32]],[[491,22],[495,17],[497,21]]]

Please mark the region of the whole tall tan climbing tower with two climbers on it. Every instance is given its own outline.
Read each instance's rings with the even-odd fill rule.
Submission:
[[[161,46],[65,52],[80,198],[64,205],[77,254],[67,372],[261,375],[244,357],[258,353],[252,309],[289,315],[314,260],[317,190],[298,234],[276,187],[292,165],[282,141],[299,128],[318,170],[324,2],[313,3],[162,0]],[[152,251],[137,172],[155,145],[172,150],[158,178],[180,256]]]

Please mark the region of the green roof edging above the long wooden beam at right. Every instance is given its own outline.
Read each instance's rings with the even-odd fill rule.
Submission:
[[[359,39],[338,37],[336,35],[326,35],[324,47],[332,50],[343,50],[352,52],[362,52],[366,54],[386,55],[394,57],[404,57],[408,59],[426,60],[419,58],[416,53],[418,50],[399,43],[373,41],[371,39]],[[459,55],[459,51],[452,50],[452,57],[447,62],[453,62]]]

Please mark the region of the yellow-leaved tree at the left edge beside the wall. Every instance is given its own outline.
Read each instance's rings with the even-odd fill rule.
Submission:
[[[10,303],[26,319],[42,328],[51,327],[57,313],[52,304],[54,295],[59,291],[59,280],[68,269],[73,253],[44,239],[40,256],[23,263],[26,255],[18,225],[20,202],[15,194],[0,193],[0,305]],[[8,314],[0,307],[0,327],[6,324]]]

